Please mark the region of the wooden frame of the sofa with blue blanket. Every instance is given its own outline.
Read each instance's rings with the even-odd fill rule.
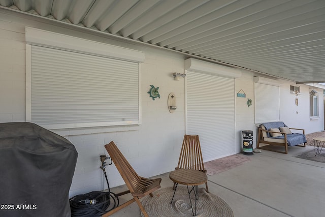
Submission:
[[[290,130],[301,130],[303,132],[303,134],[305,135],[305,130],[304,129],[298,129],[298,128],[289,128]],[[259,149],[264,149],[264,150],[269,150],[269,151],[275,151],[275,152],[279,152],[279,153],[288,153],[288,141],[286,138],[286,133],[281,133],[282,135],[284,135],[284,143],[283,142],[269,142],[269,141],[265,141],[264,140],[264,136],[263,136],[263,132],[266,133],[274,133],[272,131],[268,131],[268,130],[264,130],[262,129],[262,127],[258,128],[258,136],[257,136],[257,145],[256,148]],[[277,132],[278,133],[278,132]],[[285,148],[284,151],[280,151],[280,150],[276,150],[276,149],[272,149],[270,148],[269,145],[264,145],[264,146],[260,146],[259,143],[263,143],[263,144],[269,144],[269,145],[277,145],[277,146],[283,146]],[[304,143],[303,145],[296,145],[299,147],[306,147],[306,143]]]

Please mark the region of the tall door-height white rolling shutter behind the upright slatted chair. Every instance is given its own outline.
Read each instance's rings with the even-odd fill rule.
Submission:
[[[235,153],[234,78],[187,71],[187,134],[199,135],[205,162]]]

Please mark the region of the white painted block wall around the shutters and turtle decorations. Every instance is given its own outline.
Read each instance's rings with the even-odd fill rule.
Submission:
[[[163,49],[155,49],[104,38],[100,34],[77,32],[39,22],[29,16],[13,16],[0,13],[0,122],[25,121],[25,36],[24,27],[36,27],[61,34],[68,34],[94,41],[141,50],[145,52],[145,62],[141,71],[142,125],[138,127],[88,128],[56,130],[68,138],[79,153],[71,186],[70,196],[90,191],[103,190],[103,173],[100,169],[101,154],[107,154],[104,145],[114,141],[127,160],[141,176],[150,177],[169,172],[178,162],[182,139],[185,133],[185,81],[175,81],[173,72],[184,73],[185,56]],[[241,152],[241,131],[256,130],[254,123],[254,103],[248,107],[247,98],[254,102],[254,74],[242,70],[242,77],[235,79],[236,106],[236,152]],[[323,114],[317,120],[309,120],[308,86],[300,85],[302,95],[299,106],[294,95],[289,93],[288,81],[281,81],[281,118],[288,126],[306,129],[306,133],[323,129]],[[159,87],[160,99],[153,101],[147,91],[149,85]],[[243,89],[246,98],[236,97]],[[170,92],[177,97],[177,110],[171,114],[167,107]],[[322,98],[320,100],[322,102]],[[320,103],[319,111],[323,111]],[[296,111],[299,111],[297,114]],[[256,133],[254,135],[254,147]],[[107,167],[110,187],[123,184],[114,166]],[[106,184],[105,187],[106,188]]]

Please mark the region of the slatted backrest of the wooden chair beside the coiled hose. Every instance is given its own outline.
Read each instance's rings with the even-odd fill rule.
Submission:
[[[139,175],[128,163],[113,141],[105,145],[105,148],[112,158],[118,172],[121,174],[127,188],[131,193],[134,193],[140,181]]]

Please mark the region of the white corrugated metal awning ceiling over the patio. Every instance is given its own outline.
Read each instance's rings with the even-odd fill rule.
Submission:
[[[19,10],[297,81],[325,81],[324,0],[0,0]]]

